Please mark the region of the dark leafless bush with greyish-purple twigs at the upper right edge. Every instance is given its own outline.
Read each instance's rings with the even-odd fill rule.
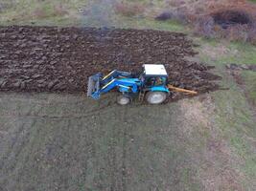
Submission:
[[[225,38],[256,45],[256,23],[246,11],[218,11],[201,16],[195,23],[195,33],[208,38]]]

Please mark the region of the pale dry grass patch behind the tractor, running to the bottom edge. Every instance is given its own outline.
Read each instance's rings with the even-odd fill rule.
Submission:
[[[184,99],[179,102],[182,113],[182,125],[179,133],[188,140],[200,135],[208,135],[200,152],[195,152],[191,159],[199,163],[198,177],[205,191],[237,190],[242,191],[241,180],[244,174],[232,168],[232,162],[242,162],[232,152],[228,142],[220,138],[215,126],[216,106],[209,95],[199,96],[198,99]],[[208,134],[206,133],[208,132]],[[220,168],[220,162],[222,168]]]

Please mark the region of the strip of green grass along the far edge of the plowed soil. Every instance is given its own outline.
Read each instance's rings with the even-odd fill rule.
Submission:
[[[145,2],[145,1],[141,1]],[[147,2],[145,2],[147,3]],[[154,2],[157,5],[159,1]],[[4,0],[7,8],[0,12],[0,25],[87,26],[154,29],[171,32],[187,31],[175,22],[157,22],[147,17],[125,17],[115,14],[114,9],[103,3],[98,6],[89,0],[20,0],[12,3]],[[89,8],[91,15],[82,15],[80,9]],[[101,11],[101,10],[106,10]],[[98,15],[99,14],[99,15]]]

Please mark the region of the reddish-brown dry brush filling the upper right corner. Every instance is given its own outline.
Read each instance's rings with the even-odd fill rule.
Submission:
[[[190,24],[196,34],[205,37],[226,38],[230,41],[256,43],[256,6],[246,0],[169,0],[166,6],[172,15],[170,19]],[[165,11],[158,12],[158,17]],[[232,23],[233,18],[231,17],[234,12],[238,14],[238,20],[244,17],[249,22]],[[228,17],[230,17],[232,24],[223,27],[215,17],[215,14],[218,13],[223,20],[228,21]]]

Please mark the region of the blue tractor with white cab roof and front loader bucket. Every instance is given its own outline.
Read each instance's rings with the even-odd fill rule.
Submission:
[[[145,64],[142,73],[134,76],[128,72],[114,70],[103,76],[98,73],[89,77],[87,96],[99,99],[113,89],[118,89],[121,96],[117,102],[127,105],[134,96],[139,100],[146,99],[150,104],[161,104],[170,95],[168,88],[168,74],[164,65]]]

